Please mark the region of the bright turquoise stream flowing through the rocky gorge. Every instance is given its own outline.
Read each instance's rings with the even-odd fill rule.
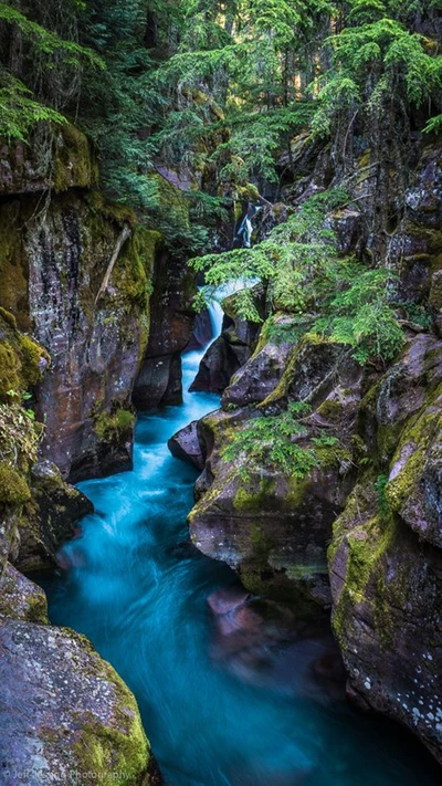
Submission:
[[[183,357],[185,391],[200,357]],[[169,786],[436,783],[396,727],[213,659],[207,598],[234,576],[188,543],[197,473],[167,440],[217,407],[186,392],[182,406],[140,416],[134,471],[80,484],[96,512],[63,549],[70,570],[42,580],[52,621],[85,633],[134,691]]]

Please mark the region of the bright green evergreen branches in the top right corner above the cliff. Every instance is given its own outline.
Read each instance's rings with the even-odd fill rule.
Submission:
[[[421,106],[440,90],[442,56],[408,28],[419,4],[350,0],[341,31],[325,42],[333,66],[316,80],[316,133],[330,133],[343,109],[362,109],[379,120],[392,102],[402,111],[404,103]],[[430,120],[428,129],[433,127]]]

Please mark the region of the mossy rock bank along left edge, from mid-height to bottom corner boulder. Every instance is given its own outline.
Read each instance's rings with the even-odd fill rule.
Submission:
[[[9,562],[49,564],[90,503],[36,463],[44,426],[27,390],[50,358],[4,310],[0,357],[1,783],[158,783],[131,693],[84,637],[49,625],[44,593]]]

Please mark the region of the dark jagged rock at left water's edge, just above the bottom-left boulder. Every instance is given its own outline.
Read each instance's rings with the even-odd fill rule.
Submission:
[[[19,554],[13,560],[27,573],[54,566],[61,546],[75,535],[75,523],[94,510],[50,461],[33,465],[30,485],[32,502],[20,518]]]

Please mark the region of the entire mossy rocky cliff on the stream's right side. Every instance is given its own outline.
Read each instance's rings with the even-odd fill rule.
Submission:
[[[286,187],[285,198],[296,205],[324,188],[325,157],[316,151],[313,177]],[[302,614],[332,608],[349,695],[409,726],[442,761],[440,146],[421,146],[414,160],[388,247],[402,301],[414,303],[399,314],[404,347],[394,361],[361,366],[308,318],[273,315],[233,369],[222,409],[181,448],[203,462],[189,517],[196,545],[253,593]],[[267,211],[263,237],[286,213]],[[327,221],[341,253],[367,252],[367,217],[345,209]],[[204,369],[217,353],[199,375],[209,388]],[[223,368],[230,376],[219,361],[218,379]],[[292,441],[285,469],[250,440],[264,429],[269,440],[281,416]],[[296,447],[309,462],[301,471]]]

